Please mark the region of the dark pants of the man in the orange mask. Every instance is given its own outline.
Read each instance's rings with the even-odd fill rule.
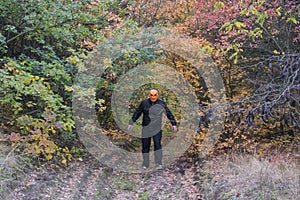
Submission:
[[[152,136],[154,142],[154,161],[156,165],[161,165],[162,160],[162,147],[161,147],[162,131]],[[149,167],[149,152],[151,146],[151,137],[142,138],[142,153],[143,153],[143,165]]]

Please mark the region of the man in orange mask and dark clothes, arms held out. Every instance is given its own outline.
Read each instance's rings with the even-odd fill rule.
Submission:
[[[129,121],[128,130],[132,129],[133,123],[143,114],[142,120],[142,169],[149,167],[149,151],[151,137],[154,141],[155,168],[162,169],[162,114],[165,113],[172,124],[172,129],[177,132],[176,120],[167,107],[166,103],[158,98],[158,90],[151,89],[149,98],[143,100]]]

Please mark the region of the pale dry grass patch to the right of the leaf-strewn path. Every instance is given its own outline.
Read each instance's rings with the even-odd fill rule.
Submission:
[[[199,169],[203,199],[297,200],[299,160],[253,155],[215,158]]]

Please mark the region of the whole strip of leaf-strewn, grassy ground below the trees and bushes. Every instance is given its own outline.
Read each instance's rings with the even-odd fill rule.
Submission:
[[[297,200],[300,197],[299,145],[289,151],[181,157],[163,170],[122,173],[90,154],[62,167],[24,165],[13,151],[1,154],[3,200]],[[26,167],[25,167],[26,166]]]

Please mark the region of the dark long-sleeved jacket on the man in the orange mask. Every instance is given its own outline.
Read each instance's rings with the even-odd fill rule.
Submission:
[[[155,126],[161,127],[162,125],[162,113],[165,113],[167,118],[170,120],[173,126],[176,126],[176,120],[167,107],[167,104],[161,100],[157,99],[156,102],[152,103],[150,99],[143,100],[139,107],[136,109],[135,113],[133,114],[129,124],[133,124],[143,113],[143,121],[142,126]]]

